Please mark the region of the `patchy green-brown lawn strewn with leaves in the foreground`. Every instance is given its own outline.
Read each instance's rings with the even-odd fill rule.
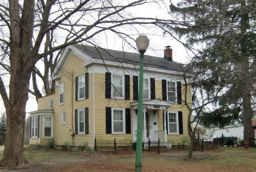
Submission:
[[[0,152],[2,155],[2,152]],[[187,151],[172,150],[143,154],[143,171],[255,171],[256,148],[220,147],[214,151],[195,151],[187,159]],[[0,171],[134,171],[135,154],[89,153],[86,151],[25,150],[28,166]]]

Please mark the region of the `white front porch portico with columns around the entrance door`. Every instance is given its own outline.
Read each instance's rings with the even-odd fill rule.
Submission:
[[[157,140],[160,138],[161,142],[167,142],[166,130],[166,112],[169,107],[173,105],[172,102],[163,101],[162,99],[149,99],[143,101],[143,141],[147,139]],[[131,103],[133,110],[133,139],[137,140],[137,109],[138,102]],[[158,111],[163,110],[163,130],[159,130]]]

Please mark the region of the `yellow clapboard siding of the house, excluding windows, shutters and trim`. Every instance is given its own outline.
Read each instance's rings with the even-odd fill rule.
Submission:
[[[49,101],[53,100],[54,119],[53,133],[54,140],[57,145],[63,145],[65,142],[81,145],[83,142],[89,142],[89,146],[93,146],[93,75],[95,89],[95,137],[97,139],[133,139],[133,111],[131,110],[131,134],[106,134],[106,107],[122,107],[130,108],[130,103],[133,101],[133,76],[130,75],[130,101],[123,99],[106,99],[105,98],[105,74],[89,74],[89,98],[82,101],[75,101],[75,77],[87,72],[86,67],[82,66],[83,61],[80,58],[71,55],[65,67],[62,70],[59,82],[64,82],[64,104],[59,105],[58,87],[55,88],[55,94],[40,98],[38,101],[38,110],[49,109]],[[183,88],[183,87],[182,87]],[[73,93],[73,94],[72,94]],[[190,98],[190,91],[188,97]],[[155,80],[155,98],[162,99],[162,82]],[[184,93],[182,91],[182,98]],[[189,99],[191,101],[191,99]],[[74,137],[69,135],[69,129],[75,129],[75,109],[84,109],[89,107],[89,134],[77,135]],[[170,111],[183,112],[183,135],[168,135],[167,139],[173,145],[181,142],[182,137],[187,135],[187,109],[185,105],[174,104],[169,109]],[[66,124],[61,124],[61,111],[66,111]],[[73,118],[72,118],[73,117]],[[42,117],[41,117],[42,119]],[[73,119],[73,125],[72,125]],[[159,130],[163,130],[162,111],[158,111]],[[41,120],[42,122],[42,120]],[[41,129],[42,129],[41,124]],[[42,130],[41,130],[42,136]],[[38,140],[38,141],[35,141]],[[30,139],[30,144],[46,144],[48,139]]]

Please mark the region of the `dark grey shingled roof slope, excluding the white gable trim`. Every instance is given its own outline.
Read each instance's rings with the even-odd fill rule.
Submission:
[[[125,51],[101,49],[86,45],[74,45],[77,49],[85,52],[91,58],[103,59],[104,61],[113,61],[119,63],[130,63],[133,65],[139,65],[139,54],[129,53]],[[165,58],[154,57],[150,55],[144,56],[144,65],[150,67],[157,67],[172,71],[183,71],[182,64],[177,62],[171,62]]]

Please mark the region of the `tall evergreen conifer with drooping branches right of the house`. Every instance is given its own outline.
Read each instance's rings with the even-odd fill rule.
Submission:
[[[234,1],[182,1],[171,3],[170,14],[183,22],[183,26],[163,25],[187,45],[203,45],[191,59],[189,67],[200,85],[191,85],[214,94],[221,88],[215,110],[205,111],[204,122],[227,125],[241,117],[244,139],[253,136],[251,99],[255,96],[256,55],[256,2]]]

